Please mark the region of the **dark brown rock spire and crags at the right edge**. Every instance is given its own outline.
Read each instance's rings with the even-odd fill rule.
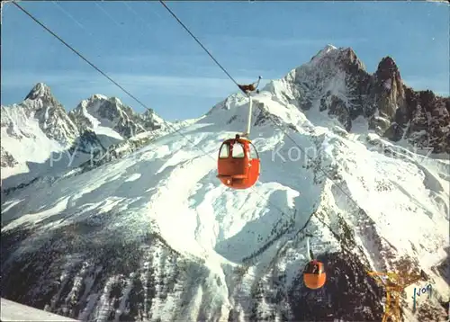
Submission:
[[[450,97],[431,91],[414,91],[401,81],[392,58],[383,58],[375,73],[375,104],[380,116],[391,121],[383,135],[397,141],[405,134],[419,148],[433,153],[450,153]]]

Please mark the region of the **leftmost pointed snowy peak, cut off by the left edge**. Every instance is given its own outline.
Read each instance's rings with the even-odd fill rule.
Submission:
[[[23,103],[1,109],[3,188],[47,173],[79,136],[64,107],[42,83],[31,89]]]

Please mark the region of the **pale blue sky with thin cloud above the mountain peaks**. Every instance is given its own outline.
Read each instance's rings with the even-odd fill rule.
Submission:
[[[20,2],[166,120],[199,117],[236,86],[159,2]],[[327,44],[367,70],[449,94],[449,6],[425,2],[166,2],[239,83],[281,78]],[[143,108],[14,4],[4,4],[2,104],[43,82],[67,110],[92,94]]]

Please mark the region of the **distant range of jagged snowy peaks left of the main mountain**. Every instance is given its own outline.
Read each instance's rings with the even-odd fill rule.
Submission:
[[[2,188],[64,174],[133,135],[167,124],[153,111],[139,114],[101,94],[67,113],[49,86],[39,83],[23,103],[2,106]]]

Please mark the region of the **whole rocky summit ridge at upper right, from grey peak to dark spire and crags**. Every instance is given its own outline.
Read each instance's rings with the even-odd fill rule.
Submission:
[[[342,79],[345,85],[339,84]],[[408,139],[418,148],[450,153],[450,97],[404,85],[391,57],[370,74],[353,49],[328,46],[282,81],[289,84],[299,108],[309,110],[318,101],[320,111],[337,117],[347,131],[364,116],[368,130],[388,139]]]

